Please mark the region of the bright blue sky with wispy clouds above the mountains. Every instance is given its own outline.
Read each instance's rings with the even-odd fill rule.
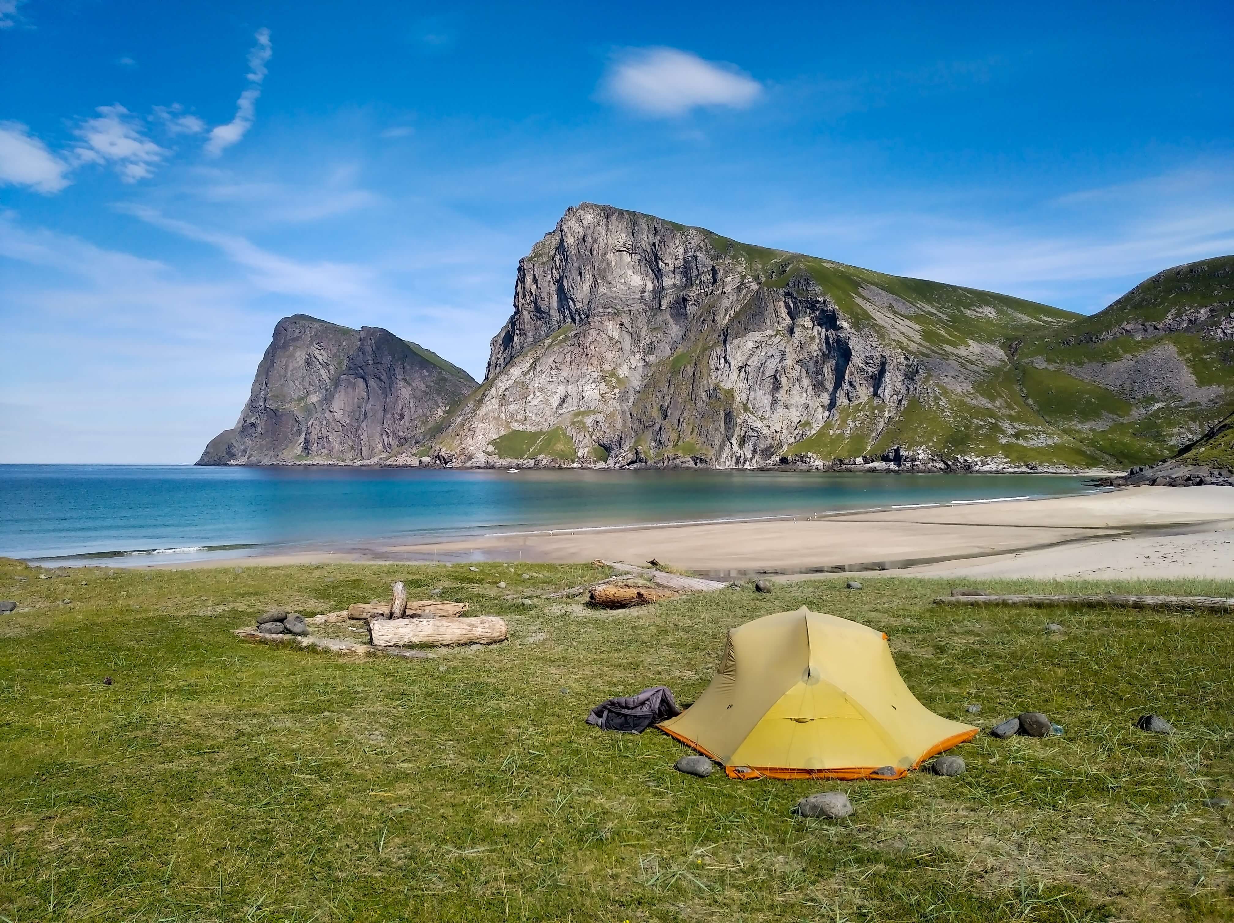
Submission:
[[[993,7],[0,0],[0,462],[195,460],[296,311],[479,376],[580,201],[1081,312],[1234,253],[1234,5]]]

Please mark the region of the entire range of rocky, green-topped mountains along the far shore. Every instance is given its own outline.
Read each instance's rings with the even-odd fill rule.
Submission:
[[[201,464],[1122,468],[1234,404],[1234,257],[1091,317],[584,204],[518,263],[485,380],[304,315]]]

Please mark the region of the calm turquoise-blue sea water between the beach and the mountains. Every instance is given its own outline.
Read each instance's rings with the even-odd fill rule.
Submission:
[[[0,555],[137,564],[1086,490],[1056,475],[0,465]]]

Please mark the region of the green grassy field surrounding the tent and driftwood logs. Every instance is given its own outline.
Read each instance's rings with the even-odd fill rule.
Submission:
[[[1234,919],[1234,814],[1202,803],[1234,788],[1229,617],[940,608],[953,584],[903,579],[597,612],[542,598],[590,566],[479,568],[41,580],[0,560],[0,598],[21,606],[0,616],[0,919]],[[396,661],[230,633],[394,579],[506,617],[511,640]],[[987,728],[1035,708],[1066,733],[981,735],[954,779],[735,782],[674,772],[664,734],[582,723],[660,682],[692,700],[728,628],[803,603],[886,631],[940,714],[979,702]],[[1137,731],[1150,711],[1177,733]],[[790,816],[833,788],[853,817]]]

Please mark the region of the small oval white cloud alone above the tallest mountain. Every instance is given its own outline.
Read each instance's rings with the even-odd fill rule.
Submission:
[[[763,85],[732,64],[676,48],[640,48],[619,56],[601,85],[618,105],[654,116],[680,116],[700,106],[745,109]]]

